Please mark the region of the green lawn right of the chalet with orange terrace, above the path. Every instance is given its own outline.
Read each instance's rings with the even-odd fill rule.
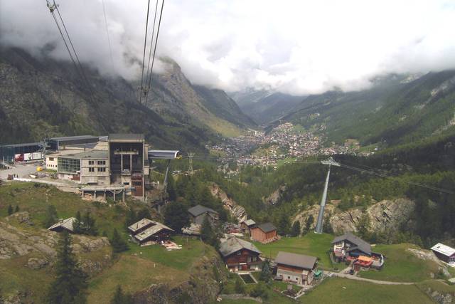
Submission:
[[[437,263],[417,258],[407,248],[421,249],[407,243],[373,247],[373,251],[386,256],[384,266],[380,271],[360,271],[359,276],[382,281],[420,282],[429,279],[430,273],[437,273]]]

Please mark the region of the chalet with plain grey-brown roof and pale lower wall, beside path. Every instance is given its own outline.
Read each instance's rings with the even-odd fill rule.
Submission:
[[[277,278],[299,285],[310,285],[314,280],[317,260],[315,256],[279,251],[275,258]]]

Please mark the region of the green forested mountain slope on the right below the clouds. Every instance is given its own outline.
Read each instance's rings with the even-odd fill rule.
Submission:
[[[454,101],[455,70],[390,75],[368,90],[310,95],[282,120],[322,129],[333,142],[402,145],[454,132]]]

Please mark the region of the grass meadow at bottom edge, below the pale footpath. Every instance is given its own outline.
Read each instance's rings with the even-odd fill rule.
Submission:
[[[299,300],[305,304],[434,303],[416,285],[379,285],[344,278],[328,278]]]

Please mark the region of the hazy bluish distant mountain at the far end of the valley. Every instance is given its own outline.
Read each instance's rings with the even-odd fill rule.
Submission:
[[[240,109],[260,125],[266,125],[289,114],[304,99],[284,93],[272,93],[255,102],[242,103]]]

